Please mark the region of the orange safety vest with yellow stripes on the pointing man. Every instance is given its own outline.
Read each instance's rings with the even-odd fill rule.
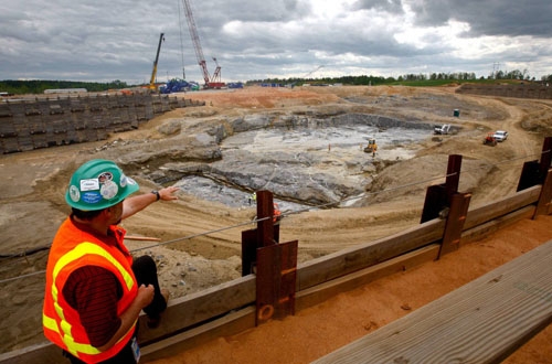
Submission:
[[[138,292],[132,272],[132,257],[123,244],[125,229],[112,226],[117,246],[110,246],[91,233],[78,229],[67,218],[55,235],[46,267],[46,288],[42,324],[44,335],[57,346],[86,363],[105,361],[116,355],[132,339],[136,322],[110,349],[100,352],[93,346],[81,322],[78,312],[63,297],[63,287],[75,270],[84,266],[98,266],[112,271],[123,287],[123,297],[117,303],[117,314],[125,312]]]

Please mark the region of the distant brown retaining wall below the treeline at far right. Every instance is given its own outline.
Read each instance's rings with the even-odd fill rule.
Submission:
[[[461,85],[456,92],[458,94],[475,94],[485,96],[552,99],[552,87],[544,85],[535,85],[535,84],[520,84],[520,85],[465,84]]]

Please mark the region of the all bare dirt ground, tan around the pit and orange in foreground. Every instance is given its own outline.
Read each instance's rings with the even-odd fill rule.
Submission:
[[[174,117],[198,115],[246,115],[262,109],[285,110],[300,107],[320,107],[346,103],[357,96],[378,98],[396,95],[416,98],[431,94],[454,95],[455,87],[296,87],[261,88],[189,93],[182,97],[205,100],[204,108],[178,109],[158,117],[140,129],[114,135],[108,141],[160,138],[157,129]],[[459,119],[450,109],[436,116],[434,111],[416,108],[408,116],[427,122],[461,122],[463,131],[428,138],[421,151],[408,161],[408,178],[424,181],[434,171],[428,156],[463,154],[466,160],[482,160],[493,164],[484,178],[471,186],[473,205],[489,203],[516,192],[523,161],[539,159],[542,140],[552,136],[552,103],[457,95],[459,101],[480,105],[474,113],[461,109]],[[428,101],[431,103],[431,101]],[[385,113],[376,109],[374,113]],[[388,114],[397,116],[390,108]],[[403,110],[404,113],[404,110]],[[427,114],[426,114],[427,113]],[[383,114],[382,114],[383,115]],[[477,115],[477,117],[476,117]],[[500,117],[493,118],[495,115]],[[403,115],[404,116],[404,115]],[[506,129],[509,139],[497,147],[482,144],[489,130]],[[103,157],[98,151],[105,141],[71,144],[0,157],[3,179],[0,181],[0,224],[2,237],[0,254],[40,248],[25,242],[44,236],[47,246],[52,232],[67,215],[63,201],[66,183],[76,161]],[[431,159],[429,159],[431,160]],[[434,175],[434,174],[432,174]],[[393,186],[401,181],[390,181]],[[157,188],[139,180],[141,192]],[[424,190],[420,189],[397,197],[365,207],[318,210],[287,216],[282,222],[280,240],[299,240],[300,259],[317,257],[329,251],[389,236],[420,222]],[[179,201],[158,203],[125,221],[131,235],[160,238],[162,242],[193,236],[208,231],[232,226],[251,218],[250,211],[229,208],[184,192]],[[232,338],[188,350],[159,363],[307,363],[348,342],[408,313],[424,303],[464,285],[486,271],[528,251],[552,238],[551,217],[522,221],[477,243],[469,244],[442,260],[379,280],[328,302],[297,312],[283,321],[270,321]],[[128,242],[131,248],[158,257],[160,281],[173,296],[189,293],[187,287],[200,290],[240,276],[241,231],[252,226],[224,229],[171,246],[155,247],[151,242]],[[152,247],[148,247],[152,246]],[[25,347],[43,341],[40,330],[43,277],[47,250],[21,258],[0,260],[0,279],[31,275],[20,280],[2,281],[0,302],[4,319],[0,352]],[[185,268],[185,270],[184,270]],[[39,272],[34,275],[34,272]],[[510,363],[552,363],[552,330],[548,328],[534,341],[520,349]]]

